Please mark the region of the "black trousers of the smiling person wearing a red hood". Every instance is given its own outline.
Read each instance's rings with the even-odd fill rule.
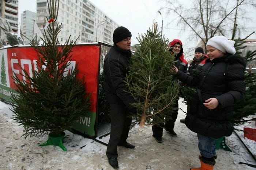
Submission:
[[[174,128],[174,122],[177,119],[178,116],[178,109],[179,109],[179,105],[178,105],[178,100],[175,101],[175,104],[173,106],[173,112],[172,112],[172,119],[169,120],[164,120],[163,119],[163,123],[160,124],[154,124],[152,126],[152,131],[153,131],[153,136],[154,137],[162,137],[163,136],[163,128],[165,128],[165,130],[167,131],[172,131]]]

